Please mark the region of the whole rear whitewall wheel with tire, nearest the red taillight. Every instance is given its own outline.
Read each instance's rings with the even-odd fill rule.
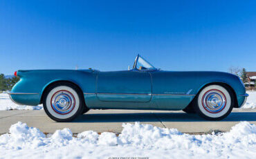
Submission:
[[[68,82],[57,83],[47,88],[44,99],[44,111],[57,122],[74,120],[84,111],[80,89]]]

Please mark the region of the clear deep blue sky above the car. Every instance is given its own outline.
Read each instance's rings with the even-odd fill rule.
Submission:
[[[0,73],[256,71],[256,1],[0,1]]]

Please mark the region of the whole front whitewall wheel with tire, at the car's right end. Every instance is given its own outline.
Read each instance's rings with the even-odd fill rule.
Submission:
[[[213,84],[199,93],[194,109],[207,120],[222,120],[230,114],[234,103],[234,95],[229,88]]]

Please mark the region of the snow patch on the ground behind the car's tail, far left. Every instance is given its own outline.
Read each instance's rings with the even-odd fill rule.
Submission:
[[[10,100],[8,93],[0,93],[0,111],[8,110],[41,110],[42,104],[39,106],[18,105]]]

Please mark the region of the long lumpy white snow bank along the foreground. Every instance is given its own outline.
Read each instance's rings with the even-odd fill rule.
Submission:
[[[256,126],[240,122],[227,133],[190,135],[149,124],[122,124],[120,135],[69,129],[51,137],[18,122],[0,136],[1,158],[253,158]]]

